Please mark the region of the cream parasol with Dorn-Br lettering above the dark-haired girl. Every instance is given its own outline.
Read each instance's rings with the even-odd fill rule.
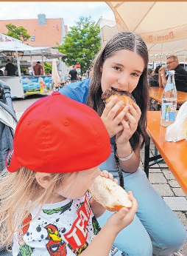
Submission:
[[[119,31],[138,33],[146,42],[149,57],[160,61],[166,55],[186,58],[186,1],[106,1],[113,10]]]

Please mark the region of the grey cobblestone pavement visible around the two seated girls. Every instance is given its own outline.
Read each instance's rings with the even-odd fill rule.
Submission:
[[[50,95],[51,93],[47,93]],[[24,110],[27,109],[32,103],[42,98],[45,95],[29,96],[23,100],[13,100],[13,107],[15,109],[18,118],[21,117]],[[154,155],[155,146],[150,145],[150,156]],[[160,195],[163,197],[164,201],[169,205],[169,207],[174,211],[178,218],[183,222],[187,229],[187,198],[183,190],[180,188],[179,184],[175,180],[172,172],[166,169],[166,164],[157,164],[159,169],[149,169],[149,181],[155,186]],[[144,148],[141,149],[141,161],[140,167],[144,169]],[[180,234],[178,234],[180,235]],[[180,253],[187,255],[187,242],[180,249]],[[1,255],[1,253],[0,253]],[[137,255],[144,256],[144,255]]]

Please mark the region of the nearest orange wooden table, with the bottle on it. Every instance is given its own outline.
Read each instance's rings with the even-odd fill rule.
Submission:
[[[160,126],[160,111],[148,112],[147,132],[158,149],[160,158],[163,158],[187,196],[187,141],[166,141],[166,127]],[[155,159],[159,159],[159,155],[149,158],[149,145],[145,146],[144,170],[147,175],[149,174],[149,162]]]

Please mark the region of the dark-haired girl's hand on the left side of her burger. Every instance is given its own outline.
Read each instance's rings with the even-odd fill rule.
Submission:
[[[127,110],[129,107],[124,107],[124,109],[119,113],[119,115],[116,115],[116,112],[121,108],[121,106],[124,104],[124,101],[118,101],[117,97],[114,97],[106,106],[105,110],[102,112],[102,121],[105,124],[105,127],[107,129],[107,132],[110,135],[110,138],[112,138],[114,135],[116,135],[118,132],[122,131],[124,129],[123,124],[121,124],[122,118],[124,118],[124,115],[127,114]]]

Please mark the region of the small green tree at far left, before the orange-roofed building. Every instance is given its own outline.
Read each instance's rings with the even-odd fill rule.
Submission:
[[[30,38],[30,35],[27,33],[27,30],[24,27],[16,27],[14,24],[10,23],[6,25],[8,29],[7,36],[11,36],[21,41],[27,41]]]

